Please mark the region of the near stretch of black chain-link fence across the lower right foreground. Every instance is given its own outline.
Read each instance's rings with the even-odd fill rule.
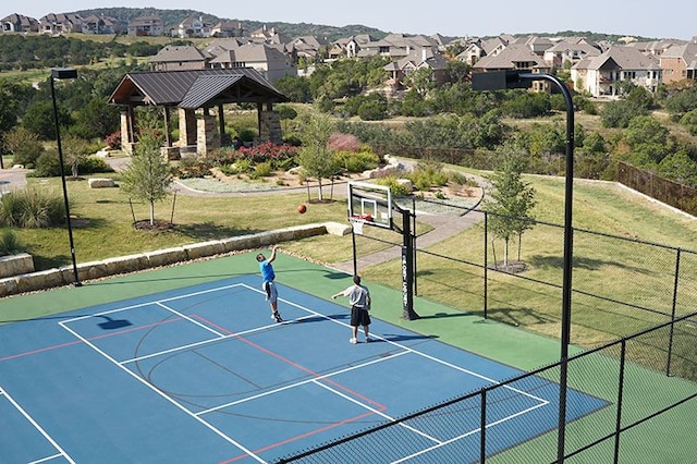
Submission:
[[[695,382],[664,374],[665,365],[677,357],[692,369],[697,368],[694,344],[692,351],[681,354],[669,347],[672,332],[692,332],[694,338],[696,323],[697,313],[682,316],[570,357],[566,391],[585,394],[566,394],[565,413],[559,413],[562,428],[550,427],[529,440],[521,441],[519,436],[524,434],[521,430],[539,427],[539,416],[525,414],[534,407],[526,408],[526,402],[533,403],[531,399],[538,392],[559,389],[562,363],[463,394],[280,462],[366,462],[367,456],[370,456],[368,461],[379,456],[379,462],[417,463],[553,463],[560,459],[567,462],[645,462],[646,456],[637,455],[632,443],[636,440],[655,442],[656,449],[660,450],[664,439],[647,432],[647,423],[697,399]],[[646,345],[660,345],[661,350],[646,356]],[[634,361],[637,358],[641,358],[643,364]],[[604,406],[592,414],[576,416],[573,422],[564,420],[570,412],[587,406],[588,395],[603,401]],[[543,406],[554,412],[562,410],[559,403]],[[505,423],[513,419],[515,426],[506,427]],[[560,430],[564,431],[564,440],[559,439]],[[670,450],[664,450],[663,456],[664,462],[674,462]]]

